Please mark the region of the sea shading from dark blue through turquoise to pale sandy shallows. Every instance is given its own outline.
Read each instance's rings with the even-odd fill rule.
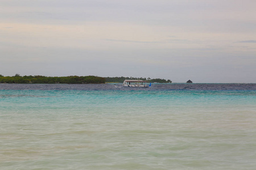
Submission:
[[[256,84],[0,84],[0,169],[255,169]]]

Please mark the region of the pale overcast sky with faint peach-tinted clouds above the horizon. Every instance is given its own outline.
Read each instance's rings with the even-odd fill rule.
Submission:
[[[0,0],[0,74],[256,83],[255,0]]]

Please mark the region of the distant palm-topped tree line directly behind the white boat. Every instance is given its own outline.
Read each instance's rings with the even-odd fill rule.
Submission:
[[[105,77],[106,79],[106,82],[114,82],[114,83],[122,83],[124,80],[145,80],[147,81],[148,83],[154,83],[154,82],[157,82],[157,83],[172,83],[171,80],[166,80],[166,79],[151,79],[151,78],[135,78],[135,77]]]

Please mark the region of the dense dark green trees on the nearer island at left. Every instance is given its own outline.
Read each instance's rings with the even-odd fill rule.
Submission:
[[[100,84],[105,83],[105,78],[99,76],[43,76],[25,75],[3,76],[0,74],[0,83],[34,83],[34,84]]]

